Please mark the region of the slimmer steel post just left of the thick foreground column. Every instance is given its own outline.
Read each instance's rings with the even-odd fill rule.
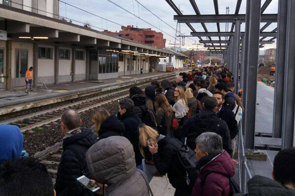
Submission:
[[[240,50],[240,27],[241,27],[241,21],[236,20],[235,25],[235,51],[234,51],[234,69],[233,69],[233,76],[234,76],[234,84],[235,84],[235,93],[237,94],[237,84],[238,84],[238,56],[239,56],[239,50]]]

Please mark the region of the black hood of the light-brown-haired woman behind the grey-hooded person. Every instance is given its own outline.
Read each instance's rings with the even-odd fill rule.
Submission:
[[[116,115],[110,115],[100,126],[98,135],[102,135],[107,131],[118,132],[118,134],[123,134],[125,131],[124,124],[116,117]]]

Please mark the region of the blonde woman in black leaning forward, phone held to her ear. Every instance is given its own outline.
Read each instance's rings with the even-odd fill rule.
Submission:
[[[142,124],[139,128],[139,149],[143,156],[143,148],[148,146],[149,152],[157,171],[165,175],[168,174],[169,182],[176,189],[174,196],[191,196],[195,177],[189,179],[187,185],[186,172],[179,161],[177,148],[172,138],[159,135],[151,127]]]

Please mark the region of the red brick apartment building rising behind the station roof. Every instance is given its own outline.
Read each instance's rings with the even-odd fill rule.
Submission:
[[[130,25],[122,26],[119,32],[104,30],[103,32],[117,35],[126,39],[137,41],[157,48],[165,48],[166,39],[163,39],[163,33],[151,30],[151,28],[135,28]]]

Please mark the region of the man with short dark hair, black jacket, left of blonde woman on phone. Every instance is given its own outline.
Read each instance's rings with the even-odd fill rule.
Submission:
[[[134,102],[129,99],[121,99],[119,101],[118,119],[124,123],[125,133],[123,134],[133,145],[136,166],[142,166],[143,156],[139,151],[139,130],[138,125],[142,123],[142,120],[134,112]],[[138,167],[143,170],[142,167]]]

